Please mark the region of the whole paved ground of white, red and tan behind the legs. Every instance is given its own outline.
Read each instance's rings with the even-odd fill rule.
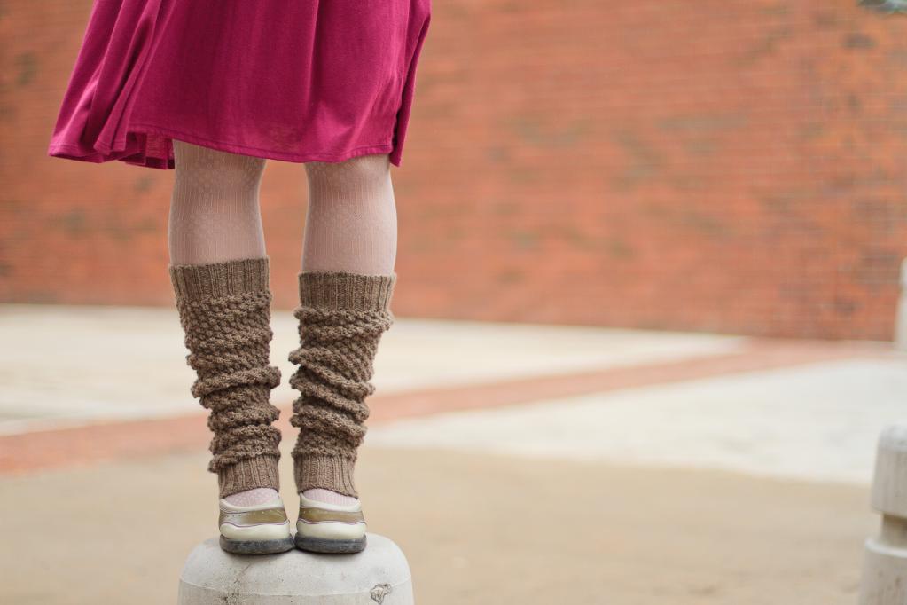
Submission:
[[[272,361],[292,511],[291,319]],[[175,312],[5,306],[0,339],[0,601],[171,602],[216,532]],[[420,603],[852,603],[905,362],[888,343],[398,317],[366,518]]]

